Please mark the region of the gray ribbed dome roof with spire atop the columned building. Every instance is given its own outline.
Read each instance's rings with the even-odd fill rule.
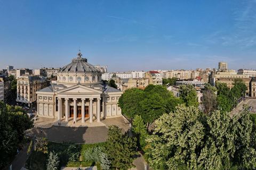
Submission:
[[[88,73],[88,72],[100,72],[96,67],[94,67],[92,64],[87,63],[86,58],[82,58],[82,54],[77,54],[77,58],[72,59],[72,63],[63,66],[59,73]]]

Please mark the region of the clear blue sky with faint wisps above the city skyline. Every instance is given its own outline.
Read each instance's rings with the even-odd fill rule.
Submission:
[[[256,69],[256,1],[0,0],[0,69]]]

